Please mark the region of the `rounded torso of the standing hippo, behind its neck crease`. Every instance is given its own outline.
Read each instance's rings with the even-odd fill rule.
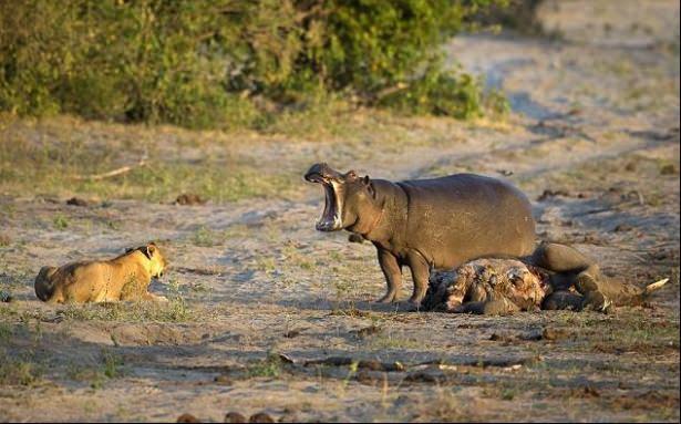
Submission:
[[[407,197],[405,240],[437,268],[534,250],[532,205],[508,183],[456,174],[398,185]]]

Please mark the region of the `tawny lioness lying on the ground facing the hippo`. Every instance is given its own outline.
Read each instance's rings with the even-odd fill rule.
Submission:
[[[50,303],[165,300],[147,291],[152,277],[159,278],[165,267],[161,250],[149,242],[111,260],[42,267],[35,277],[35,296]]]

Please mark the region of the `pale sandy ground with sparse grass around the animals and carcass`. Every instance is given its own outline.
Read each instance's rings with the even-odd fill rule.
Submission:
[[[651,306],[481,318],[374,304],[373,247],[314,231],[322,197],[302,179],[203,206],[68,206],[37,187],[0,196],[0,289],[16,299],[0,303],[0,421],[678,421],[679,4],[639,3],[548,2],[553,39],[446,45],[508,94],[503,123],[363,111],[348,137],[158,138],[163,157],[227,151],[300,175],[327,161],[384,178],[506,178],[533,199],[543,239],[639,285],[671,278]],[[151,239],[172,263],[152,286],[168,306],[55,308],[33,294],[42,265]],[[324,363],[337,356],[351,364]]]

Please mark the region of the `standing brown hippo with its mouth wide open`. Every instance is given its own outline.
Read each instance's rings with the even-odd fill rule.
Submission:
[[[414,281],[410,302],[423,300],[430,270],[482,257],[526,257],[535,248],[527,197],[508,183],[474,174],[389,182],[312,165],[305,179],[321,184],[320,231],[345,229],[371,241],[388,283],[379,302],[393,302],[402,267]]]

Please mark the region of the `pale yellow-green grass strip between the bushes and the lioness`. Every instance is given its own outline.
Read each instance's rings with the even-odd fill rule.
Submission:
[[[195,193],[220,203],[285,197],[300,185],[298,175],[278,168],[264,172],[255,158],[233,156],[224,145],[226,135],[220,141],[215,141],[215,133],[180,130],[159,135],[158,130],[147,132],[134,126],[63,117],[40,124],[22,120],[14,123],[0,130],[0,137],[7,139],[0,144],[0,190],[9,195],[78,193],[99,198],[171,201],[179,193]],[[167,143],[168,136],[176,141]],[[97,142],[101,139],[106,143]],[[206,153],[188,159],[179,153],[185,151],[180,145],[188,145],[189,149],[219,146],[219,153],[205,148]],[[168,154],[167,148],[173,153]],[[148,156],[146,166],[133,167],[122,175],[96,180],[82,178],[136,164],[144,156]],[[63,216],[55,217],[56,228],[63,229],[68,224]]]

